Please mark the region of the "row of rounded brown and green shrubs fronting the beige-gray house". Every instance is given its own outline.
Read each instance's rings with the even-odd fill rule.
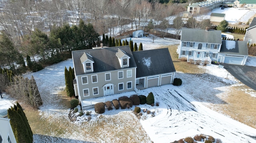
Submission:
[[[125,109],[125,108],[131,108],[133,105],[140,105],[140,104],[148,104],[151,106],[154,106],[154,95],[152,92],[148,94],[148,96],[144,95],[132,95],[130,98],[127,96],[119,97],[118,100],[114,99],[111,101],[107,101],[106,103],[100,102],[94,105],[95,113],[102,114],[105,112],[105,108],[107,110],[113,110],[113,106],[116,110],[119,108]],[[106,106],[106,107],[105,107]]]

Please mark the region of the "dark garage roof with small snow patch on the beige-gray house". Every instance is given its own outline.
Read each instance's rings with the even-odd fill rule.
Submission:
[[[175,72],[168,48],[132,52],[137,69],[136,78]]]

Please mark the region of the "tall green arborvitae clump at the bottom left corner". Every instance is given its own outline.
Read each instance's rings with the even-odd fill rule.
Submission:
[[[10,125],[17,143],[33,143],[33,133],[22,107],[17,105],[7,110]]]

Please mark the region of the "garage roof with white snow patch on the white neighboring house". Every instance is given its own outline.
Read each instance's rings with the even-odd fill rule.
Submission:
[[[234,54],[234,55],[248,55],[247,42],[222,40],[220,53]]]

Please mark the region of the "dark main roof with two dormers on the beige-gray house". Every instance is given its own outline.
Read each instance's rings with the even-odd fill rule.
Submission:
[[[129,67],[127,68],[136,67],[136,63],[134,61],[134,58],[129,46],[79,50],[79,51],[72,51],[72,58],[74,61],[74,69],[75,69],[76,75],[85,74],[83,65],[80,61],[80,57],[82,57],[84,52],[92,56],[92,59],[94,61],[94,64],[93,64],[94,72],[104,72],[104,71],[113,71],[113,70],[122,69],[120,67],[118,57],[116,57],[116,52],[118,51],[118,48],[122,49],[124,52],[126,52],[126,55],[130,57]]]

